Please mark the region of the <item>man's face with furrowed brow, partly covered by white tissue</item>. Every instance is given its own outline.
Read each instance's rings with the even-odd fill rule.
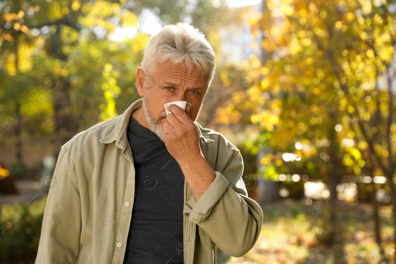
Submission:
[[[165,103],[188,101],[192,104],[191,120],[197,118],[208,81],[197,71],[188,72],[183,64],[158,64],[158,70],[144,74],[137,69],[137,91],[143,97],[148,125],[158,135],[166,122]],[[153,127],[154,126],[154,127]]]

